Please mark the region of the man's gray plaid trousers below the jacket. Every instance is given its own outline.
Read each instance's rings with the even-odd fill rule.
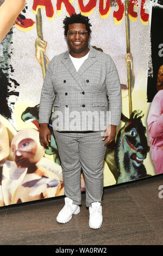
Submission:
[[[104,131],[103,131],[104,132]],[[83,170],[86,187],[86,206],[93,202],[102,203],[103,161],[106,147],[98,132],[54,131],[61,160],[65,196],[80,205],[80,175]]]

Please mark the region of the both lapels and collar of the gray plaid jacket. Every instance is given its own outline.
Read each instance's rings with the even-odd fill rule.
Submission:
[[[96,54],[95,51],[93,50],[92,46],[90,47],[90,53],[89,57],[85,60],[85,62],[80,66],[80,69],[78,72],[76,71],[72,60],[69,56],[69,52],[65,52],[64,58],[62,58],[61,62],[64,64],[65,68],[70,72],[74,80],[79,84],[79,86],[84,90],[84,87],[82,86],[82,83],[80,83],[80,76],[83,74],[83,72],[88,69],[93,63],[96,62]]]

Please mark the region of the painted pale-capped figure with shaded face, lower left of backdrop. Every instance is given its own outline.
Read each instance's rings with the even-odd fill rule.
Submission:
[[[61,188],[58,176],[37,165],[45,154],[37,130],[18,131],[11,142],[11,154],[18,168],[26,168],[26,175],[17,187],[11,204],[56,196]]]

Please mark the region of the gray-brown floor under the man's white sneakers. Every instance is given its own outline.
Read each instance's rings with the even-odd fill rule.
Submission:
[[[106,188],[103,224],[89,228],[83,205],[70,222],[56,222],[64,198],[1,208],[0,245],[163,245],[163,175]],[[163,195],[163,192],[162,192]]]

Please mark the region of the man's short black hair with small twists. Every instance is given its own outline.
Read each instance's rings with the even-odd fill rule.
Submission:
[[[64,23],[64,35],[67,35],[68,32],[68,25],[69,24],[73,24],[73,23],[83,23],[85,24],[86,30],[87,30],[87,34],[90,35],[91,34],[91,29],[90,27],[92,26],[91,23],[89,22],[89,17],[82,15],[81,13],[79,14],[71,14],[70,17],[65,17],[63,23]]]

